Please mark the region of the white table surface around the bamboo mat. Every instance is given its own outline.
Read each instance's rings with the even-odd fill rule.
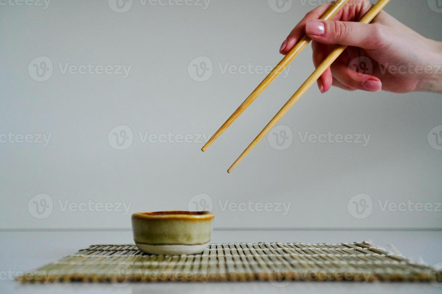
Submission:
[[[389,251],[393,244],[405,257],[429,265],[442,262],[441,231],[213,231],[213,243],[305,242],[339,243],[372,240]],[[130,231],[0,231],[0,293],[441,293],[442,284],[291,282],[277,288],[269,282],[28,284],[13,280],[16,272],[38,268],[91,244],[132,243]]]

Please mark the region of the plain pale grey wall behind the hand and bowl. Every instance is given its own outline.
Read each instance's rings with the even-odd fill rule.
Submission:
[[[293,0],[285,13],[272,11],[265,0],[212,0],[206,9],[201,3],[152,6],[148,0],[143,6],[133,0],[125,13],[105,0],[0,7],[0,133],[51,134],[47,146],[0,144],[0,228],[127,228],[133,212],[188,209],[201,193],[210,195],[215,227],[441,228],[442,212],[382,211],[378,204],[442,201],[442,151],[427,139],[442,125],[441,95],[340,89],[321,95],[313,87],[280,121],[293,132],[290,148],[275,150],[263,140],[232,174],[226,172],[313,71],[310,48],[206,153],[202,143],[142,143],[139,131],[213,134],[265,77],[222,74],[219,64],[275,65],[282,41],[318,1]],[[386,11],[442,41],[442,13],[427,0],[392,0]],[[53,62],[45,82],[28,74],[39,56]],[[188,72],[198,56],[213,63],[205,82]],[[62,74],[59,63],[132,67],[123,78]],[[133,131],[132,145],[122,151],[107,138],[118,125]],[[302,143],[298,131],[371,138],[366,147]],[[362,193],[370,195],[372,212],[356,219],[347,203]],[[53,201],[42,219],[30,202],[37,194]],[[286,215],[239,212],[219,202],[249,200],[290,209]],[[124,209],[75,209],[88,201],[131,206],[127,215]],[[66,203],[74,206],[63,211]]]

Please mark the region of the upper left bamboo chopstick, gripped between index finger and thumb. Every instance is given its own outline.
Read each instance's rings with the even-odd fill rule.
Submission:
[[[349,0],[338,0],[334,5],[330,6],[327,11],[320,17],[320,19],[331,20],[333,17],[344,7],[344,5]],[[230,115],[229,119],[216,131],[215,134],[210,138],[209,141],[201,148],[204,152],[206,149],[212,145],[212,143],[224,133],[225,130],[237,119],[241,113],[244,112],[246,108],[259,96],[259,94],[263,93],[263,91],[270,85],[273,80],[282,73],[282,71],[293,61],[293,59],[307,46],[310,41],[312,41],[309,37],[302,37],[297,44],[287,53],[284,58],[278,63],[278,65],[267,75],[267,77],[256,87],[255,90],[249,95],[249,97],[244,100],[244,102],[238,107],[232,115]]]

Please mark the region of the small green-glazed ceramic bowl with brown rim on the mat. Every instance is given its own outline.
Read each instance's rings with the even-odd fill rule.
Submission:
[[[198,254],[210,242],[214,216],[210,211],[136,212],[132,215],[133,240],[149,254]]]

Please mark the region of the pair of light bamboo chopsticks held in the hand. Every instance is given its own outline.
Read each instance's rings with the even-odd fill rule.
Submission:
[[[338,0],[334,5],[328,8],[327,11],[321,16],[320,19],[331,20],[333,17],[344,7],[348,0]],[[390,0],[378,0],[376,4],[366,13],[366,15],[360,20],[362,23],[370,23],[379,12],[390,2]],[[292,62],[292,60],[309,44],[311,39],[307,36],[302,37],[297,44],[290,50],[290,52],[281,60],[280,63],[267,75],[267,77],[259,84],[259,86],[247,97],[246,100],[236,109],[235,112],[227,119],[227,121],[217,130],[215,134],[207,141],[206,145],[202,147],[202,151],[212,145],[212,143],[237,119],[241,113],[261,94],[264,89]],[[347,48],[346,45],[338,45],[328,55],[328,57],[316,68],[315,71],[307,78],[307,80],[301,85],[301,87],[293,94],[286,104],[278,111],[278,113],[271,119],[266,127],[256,136],[256,138],[248,145],[243,153],[235,160],[232,166],[227,170],[231,172],[236,165],[250,152],[253,147],[274,127],[276,123],[282,118],[283,115],[301,98],[301,96],[320,78],[320,76],[327,70],[328,67],[341,55],[341,53]]]

